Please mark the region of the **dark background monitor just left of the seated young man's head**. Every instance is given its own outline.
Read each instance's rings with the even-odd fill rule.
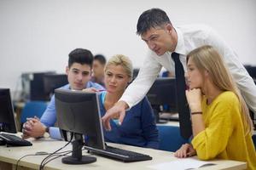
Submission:
[[[54,94],[56,88],[68,84],[66,74],[44,75],[44,94],[48,96],[48,100]]]

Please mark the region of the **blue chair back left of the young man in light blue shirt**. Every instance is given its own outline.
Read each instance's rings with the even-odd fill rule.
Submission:
[[[40,118],[46,110],[47,104],[44,101],[29,101],[21,111],[20,122],[26,122],[27,117],[37,116]]]

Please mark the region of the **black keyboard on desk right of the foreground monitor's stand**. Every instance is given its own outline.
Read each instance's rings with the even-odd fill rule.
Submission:
[[[89,146],[84,146],[86,150],[91,151],[92,153],[95,153],[97,155],[106,156],[109,158],[113,158],[119,161],[147,161],[152,160],[151,156],[144,155],[141,153],[137,153],[130,150],[122,150],[119,148],[115,148],[112,146],[106,146],[105,150],[100,150],[96,148],[91,148]]]

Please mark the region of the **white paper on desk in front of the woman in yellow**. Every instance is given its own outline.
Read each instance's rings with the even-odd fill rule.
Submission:
[[[196,169],[199,167],[205,167],[210,165],[215,165],[215,164],[210,161],[199,161],[193,158],[183,158],[183,159],[178,159],[177,161],[159,163],[159,164],[155,164],[148,167],[157,169],[157,170],[166,170],[171,168],[175,170],[189,170],[189,169]]]

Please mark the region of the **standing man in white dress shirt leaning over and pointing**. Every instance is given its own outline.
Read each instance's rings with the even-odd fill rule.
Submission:
[[[150,50],[135,81],[125,90],[119,102],[102,117],[106,129],[111,130],[109,119],[113,116],[119,117],[120,124],[123,122],[125,110],[143,99],[162,66],[167,71],[175,73],[172,52],[179,54],[183,69],[186,71],[186,55],[203,45],[211,45],[218,49],[235,78],[249,109],[254,114],[256,113],[256,86],[253,78],[248,75],[236,53],[210,27],[201,25],[174,27],[165,11],[160,8],[151,8],[139,17],[137,35],[142,37]]]

